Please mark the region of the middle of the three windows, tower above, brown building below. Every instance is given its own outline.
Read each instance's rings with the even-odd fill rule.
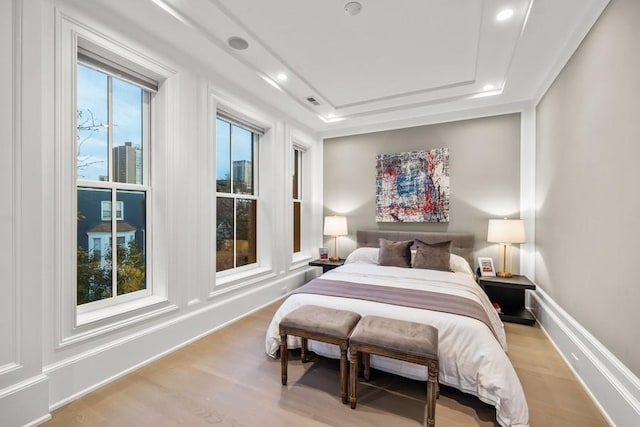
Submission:
[[[216,271],[257,262],[258,136],[250,125],[216,119]]]

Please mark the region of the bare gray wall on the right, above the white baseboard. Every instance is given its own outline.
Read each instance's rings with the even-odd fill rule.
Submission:
[[[537,284],[637,376],[639,22],[612,0],[536,110]]]

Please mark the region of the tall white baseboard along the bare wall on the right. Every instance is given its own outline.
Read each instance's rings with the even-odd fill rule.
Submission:
[[[637,426],[640,379],[539,286],[530,293],[529,305],[607,421],[613,426]]]

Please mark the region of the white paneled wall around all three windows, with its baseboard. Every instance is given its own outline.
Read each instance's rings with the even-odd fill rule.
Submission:
[[[0,2],[0,425],[37,423],[49,411],[142,364],[280,298],[317,271],[307,266],[321,245],[322,144],[314,132],[229,82],[210,63],[227,61],[202,34],[158,14],[154,33],[133,25],[100,2],[14,0]],[[132,3],[131,8],[141,7]],[[157,11],[156,11],[157,9]],[[165,16],[166,15],[166,16]],[[64,19],[61,17],[64,16]],[[149,19],[152,17],[150,16]],[[73,306],[71,283],[63,280],[73,251],[60,251],[69,227],[60,194],[73,193],[61,179],[59,137],[63,87],[56,69],[60,22],[86,25],[109,40],[134,49],[173,70],[158,117],[166,141],[154,155],[158,236],[154,259],[168,287],[161,310],[139,318],[124,314],[104,320],[85,335],[65,340]],[[191,31],[191,32],[189,32]],[[212,54],[212,52],[218,52]],[[208,55],[208,56],[207,56]],[[216,56],[219,55],[219,56]],[[213,57],[212,57],[213,56]],[[4,96],[7,94],[7,96]],[[212,123],[220,105],[255,118],[269,128],[260,159],[263,213],[259,235],[260,274],[216,278],[215,150]],[[291,143],[305,153],[303,253],[291,254]],[[271,197],[270,197],[271,196]],[[60,207],[62,205],[62,208]],[[289,212],[283,215],[282,212]],[[67,221],[68,222],[68,221]],[[71,221],[73,222],[73,221]],[[66,228],[65,228],[66,227]],[[154,253],[156,253],[154,252]],[[66,298],[66,299],[65,299]],[[70,307],[70,308],[69,308]],[[73,332],[72,332],[73,333]],[[67,337],[68,338],[68,337]]]

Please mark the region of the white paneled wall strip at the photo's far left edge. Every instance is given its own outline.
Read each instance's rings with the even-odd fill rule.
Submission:
[[[33,15],[34,19],[23,19]],[[47,414],[42,375],[42,153],[39,5],[0,4],[0,424]],[[28,48],[27,46],[32,46]]]

